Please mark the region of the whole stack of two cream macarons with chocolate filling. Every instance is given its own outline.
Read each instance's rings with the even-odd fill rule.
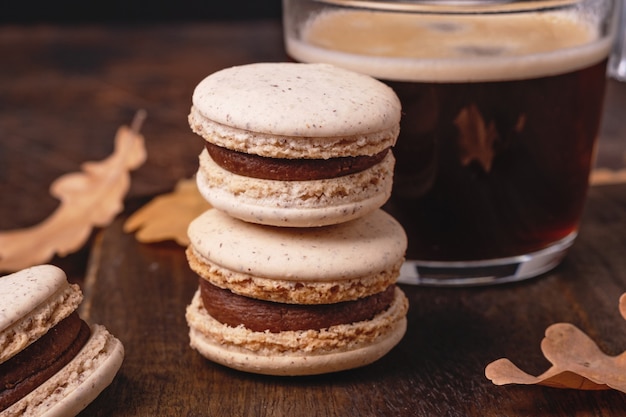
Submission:
[[[371,77],[260,63],[200,82],[198,188],[188,229],[200,279],[190,343],[231,368],[308,375],[369,364],[406,331],[406,251],[391,193],[400,104]]]

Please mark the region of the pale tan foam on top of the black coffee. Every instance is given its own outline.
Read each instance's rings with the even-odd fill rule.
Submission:
[[[286,47],[298,61],[381,79],[473,82],[586,68],[607,57],[610,39],[568,12],[448,17],[350,10],[315,16],[301,39],[288,34]]]

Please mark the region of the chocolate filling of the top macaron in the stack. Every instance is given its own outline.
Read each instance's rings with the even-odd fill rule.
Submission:
[[[354,174],[385,158],[389,149],[376,155],[331,159],[267,158],[222,148],[206,142],[211,159],[227,171],[245,177],[279,181],[311,181]]]

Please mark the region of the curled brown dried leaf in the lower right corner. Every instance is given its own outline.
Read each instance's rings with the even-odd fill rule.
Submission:
[[[626,319],[626,294],[619,300]],[[618,356],[603,353],[580,329],[569,323],[548,327],[541,351],[552,363],[546,372],[532,376],[503,358],[487,365],[485,375],[496,385],[537,384],[580,390],[616,389],[626,392],[626,352]]]

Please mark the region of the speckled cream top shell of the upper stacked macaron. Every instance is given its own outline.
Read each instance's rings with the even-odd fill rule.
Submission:
[[[373,155],[395,144],[401,115],[391,88],[327,64],[227,68],[192,103],[189,124],[205,140],[274,158]]]

